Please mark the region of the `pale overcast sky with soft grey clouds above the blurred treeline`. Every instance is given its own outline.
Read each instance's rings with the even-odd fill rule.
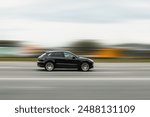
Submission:
[[[0,40],[149,43],[150,0],[0,0]]]

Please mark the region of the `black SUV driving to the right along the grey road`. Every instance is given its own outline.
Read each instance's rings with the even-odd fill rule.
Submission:
[[[38,57],[37,65],[47,71],[52,71],[54,68],[77,68],[88,71],[94,67],[94,61],[69,51],[48,51]]]

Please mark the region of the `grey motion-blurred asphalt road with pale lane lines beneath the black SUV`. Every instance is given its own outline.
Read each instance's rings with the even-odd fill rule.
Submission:
[[[150,63],[96,63],[89,72],[47,72],[34,62],[0,62],[0,99],[150,100]]]

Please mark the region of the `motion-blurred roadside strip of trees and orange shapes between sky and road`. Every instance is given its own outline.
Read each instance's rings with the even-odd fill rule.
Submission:
[[[66,47],[45,47],[15,40],[0,40],[1,61],[35,61],[45,51],[66,50],[96,62],[150,62],[150,45],[122,43],[105,45],[95,40],[80,40]]]

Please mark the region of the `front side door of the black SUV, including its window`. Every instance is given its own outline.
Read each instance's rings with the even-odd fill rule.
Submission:
[[[70,52],[64,52],[64,64],[67,68],[77,68],[79,60],[74,54]]]

